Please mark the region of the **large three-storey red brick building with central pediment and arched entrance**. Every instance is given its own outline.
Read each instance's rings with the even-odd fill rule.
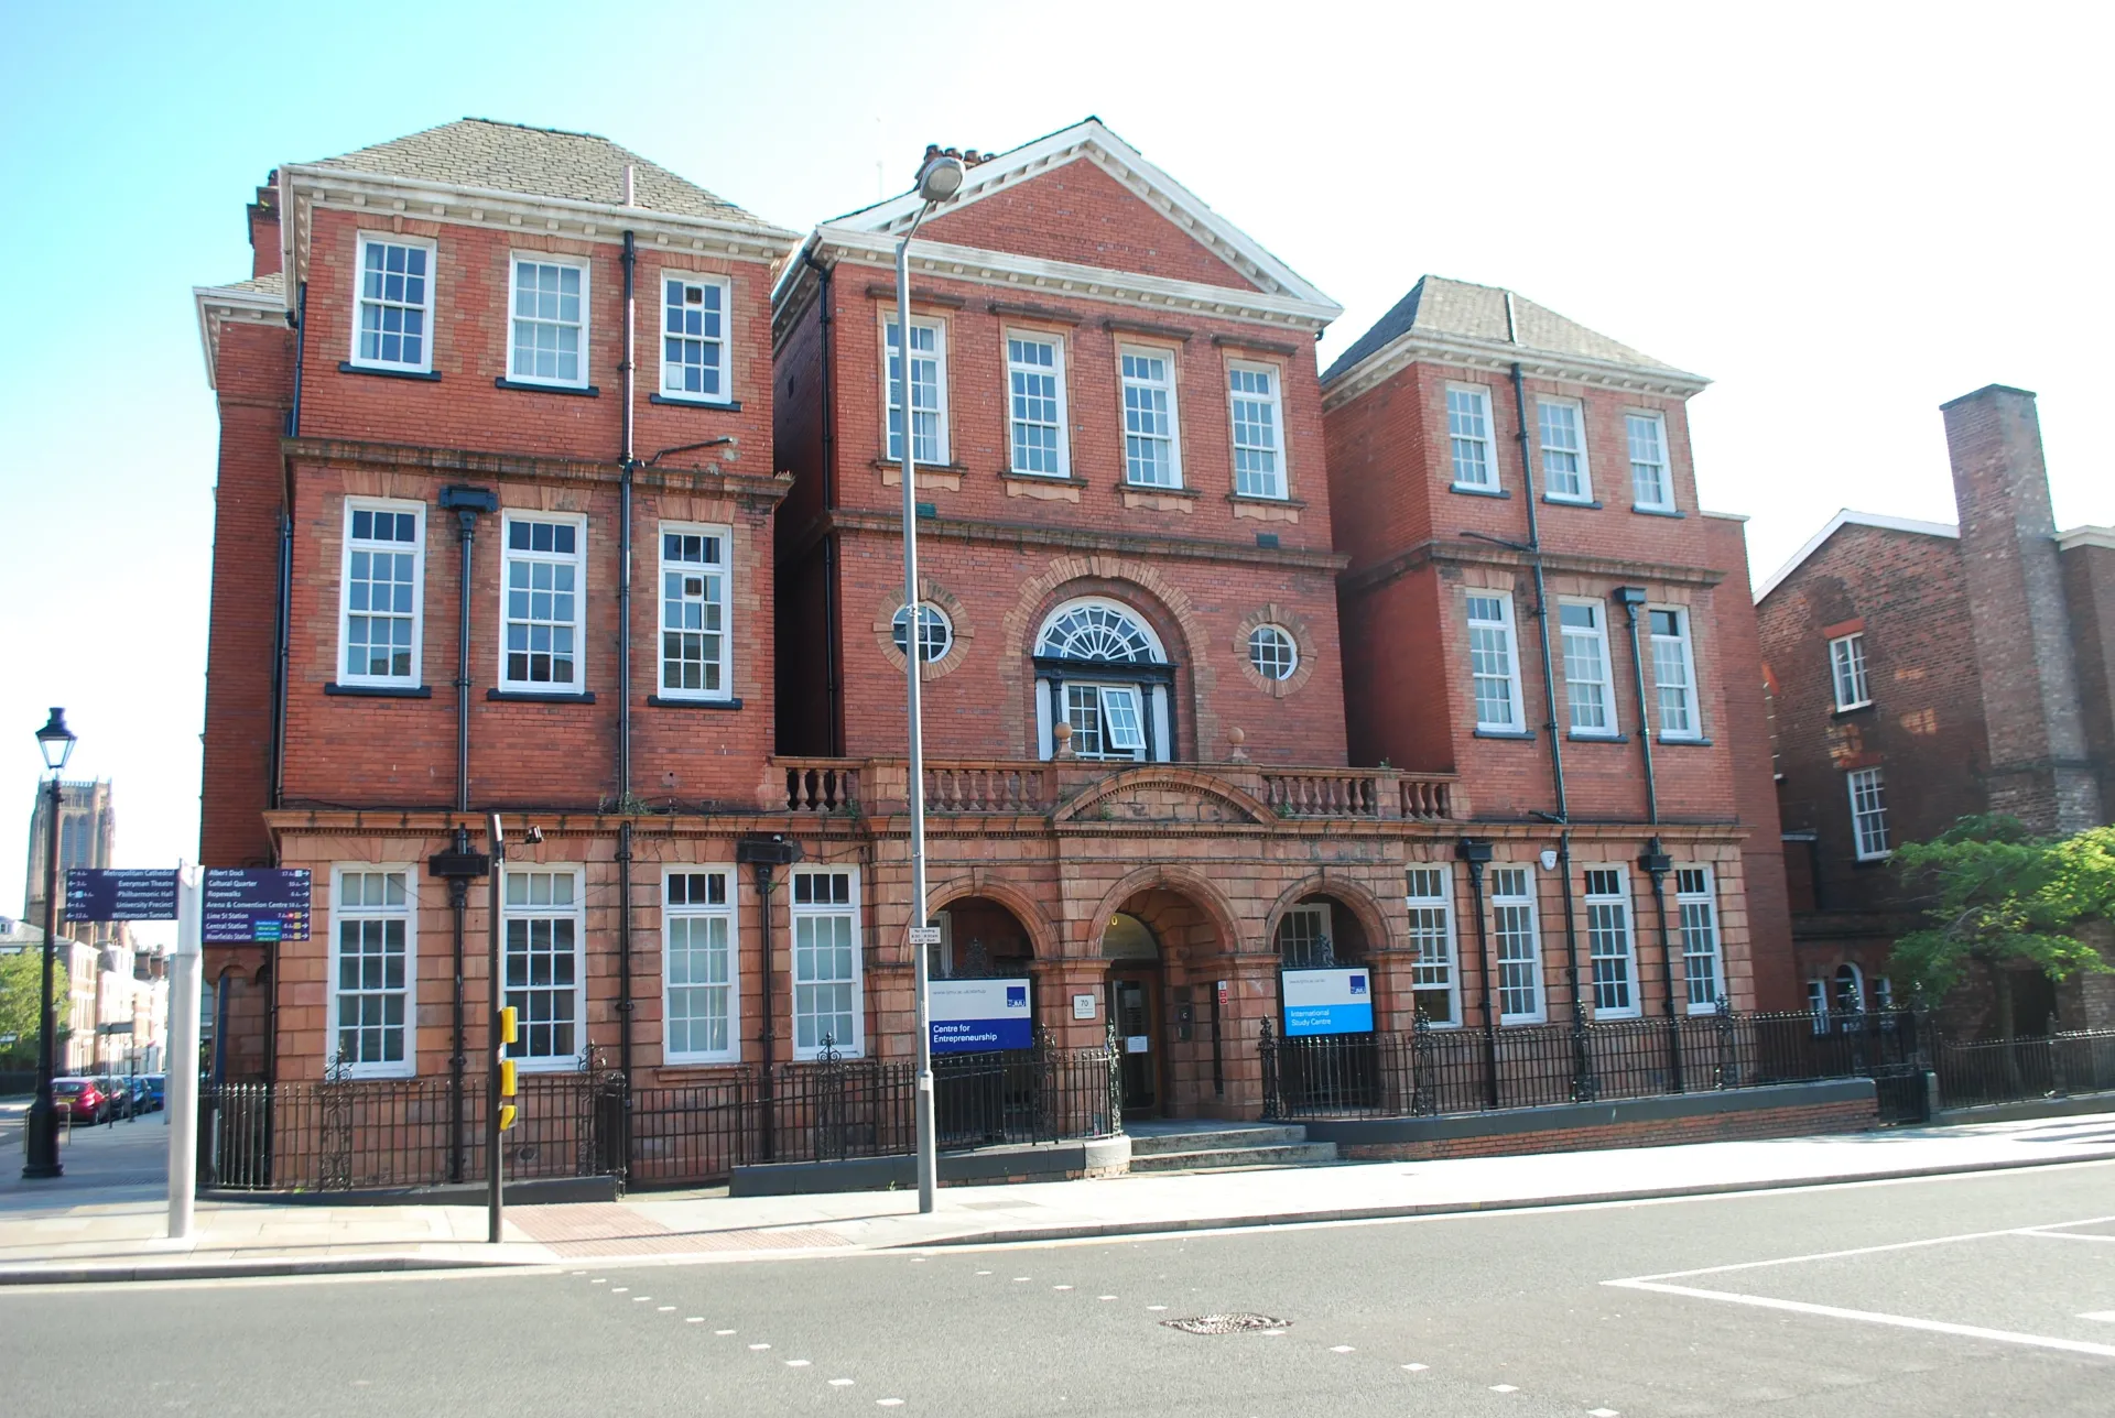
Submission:
[[[448,1071],[457,1000],[489,997],[478,949],[461,993],[450,964],[484,888],[450,898],[429,858],[480,852],[489,807],[544,837],[501,915],[525,1063],[704,1084],[907,1055],[912,642],[937,972],[1026,974],[1060,1042],[1115,1025],[1127,1107],[1254,1116],[1284,964],[1371,966],[1385,1031],[1474,1023],[1485,888],[1508,1023],[1569,1016],[1567,951],[1595,1016],[1755,1004],[1777,824],[1741,530],[1694,501],[1703,380],[1535,313],[1516,344],[1411,321],[1324,385],[1339,309],[1098,120],[969,165],[912,247],[905,340],[912,216],[795,245],[605,139],[478,120],[260,190],[256,275],[199,292],[224,429],[205,860],[309,866],[317,932],[212,962],[247,1040],[228,1076]],[[1464,535],[1525,535],[1491,374],[1516,359],[1622,469],[1603,509],[1550,505],[1533,556]],[[1387,414],[1449,378],[1491,395],[1493,497],[1445,492],[1430,410]],[[1656,452],[1626,450],[1633,412]],[[1533,560],[1550,596],[1603,596],[1569,833],[1538,816]],[[1616,585],[1662,666],[1658,822]],[[1470,587],[1519,615],[1504,735],[1476,727]],[[799,860],[751,869],[776,843]]]

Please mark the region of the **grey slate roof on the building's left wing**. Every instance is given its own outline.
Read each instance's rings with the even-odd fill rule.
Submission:
[[[341,167],[379,178],[417,178],[491,192],[609,205],[624,201],[626,165],[635,169],[632,201],[649,211],[768,226],[761,218],[607,137],[491,118],[459,118],[438,129],[309,163],[309,167]]]

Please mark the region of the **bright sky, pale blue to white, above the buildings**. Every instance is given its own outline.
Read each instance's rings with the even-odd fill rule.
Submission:
[[[190,287],[273,165],[465,114],[613,137],[787,226],[926,142],[1100,114],[1345,306],[1512,285],[1717,380],[1709,507],[1766,575],[1838,507],[1952,518],[1937,404],[2041,393],[2115,522],[2100,6],[0,0],[0,911],[44,706],[125,864],[197,850],[216,427]]]

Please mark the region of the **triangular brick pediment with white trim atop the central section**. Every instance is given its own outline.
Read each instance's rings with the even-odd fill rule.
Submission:
[[[905,192],[829,226],[895,237],[918,209],[918,197]],[[1148,163],[1100,118],[979,161],[962,188],[924,220],[918,237],[1263,292],[1339,311],[1337,302]]]

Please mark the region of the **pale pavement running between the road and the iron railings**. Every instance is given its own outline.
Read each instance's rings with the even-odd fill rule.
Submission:
[[[757,1198],[641,1192],[622,1202],[510,1207],[501,1245],[484,1243],[478,1207],[209,1200],[199,1205],[197,1234],[171,1245],[163,1238],[161,1186],[140,1183],[163,1137],[152,1118],[80,1133],[66,1152],[68,1177],[57,1183],[19,1183],[13,1179],[19,1167],[8,1160],[8,1179],[0,1183],[0,1283],[550,1266],[620,1255],[666,1262],[844,1255],[2115,1160],[2115,1114],[2094,1114],[1550,1156],[950,1188],[928,1217],[918,1215],[909,1192]]]

